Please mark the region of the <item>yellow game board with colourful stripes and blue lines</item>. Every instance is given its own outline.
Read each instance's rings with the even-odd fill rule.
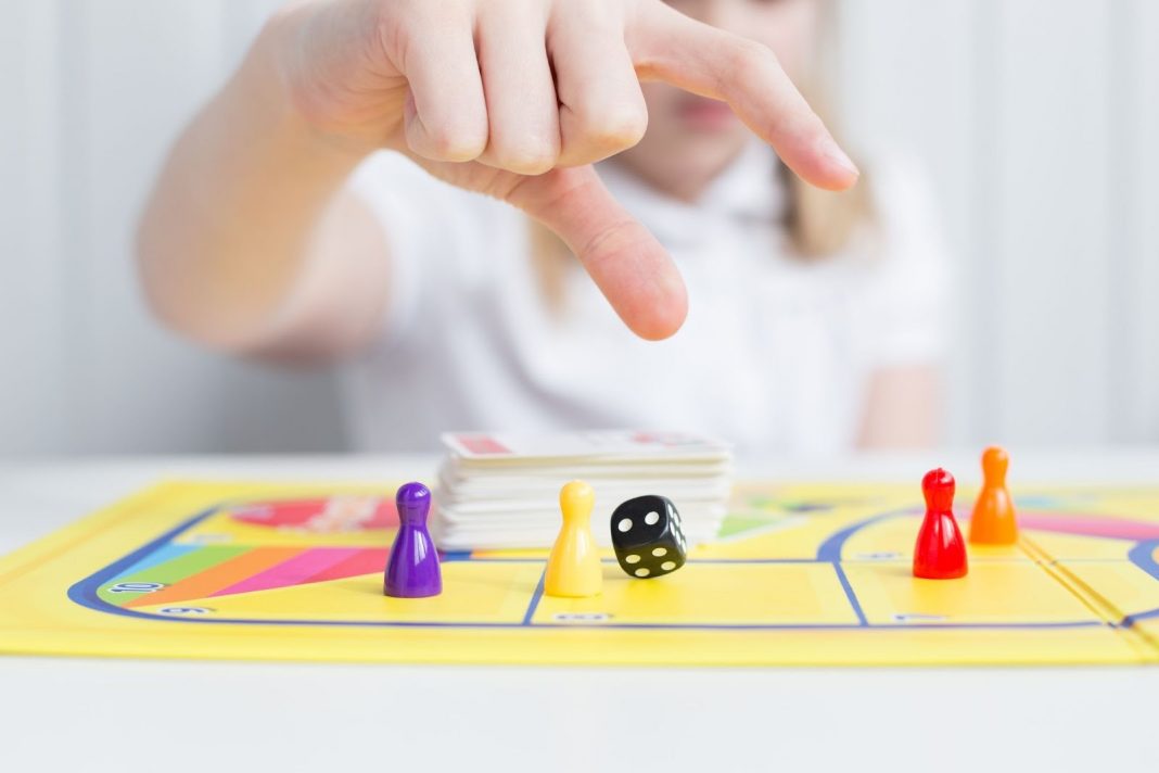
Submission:
[[[163,483],[0,562],[8,654],[542,664],[1159,662],[1159,488],[1014,490],[1016,546],[916,579],[917,486],[738,486],[671,576],[542,595],[546,552],[385,598],[393,486]],[[964,522],[974,493],[963,488]],[[599,502],[596,527],[615,503]],[[963,531],[965,523],[963,523]]]

